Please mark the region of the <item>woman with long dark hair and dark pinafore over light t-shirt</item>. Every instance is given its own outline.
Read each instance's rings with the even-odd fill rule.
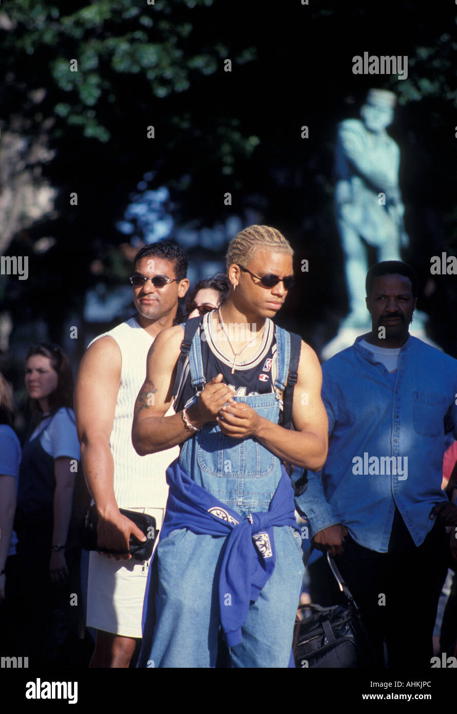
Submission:
[[[77,534],[71,511],[81,458],[72,408],[68,357],[51,343],[31,346],[26,357],[31,413],[40,421],[24,445],[15,527],[19,640],[29,666],[57,664],[77,635]],[[18,580],[18,583],[19,583]],[[71,630],[74,630],[72,633]]]

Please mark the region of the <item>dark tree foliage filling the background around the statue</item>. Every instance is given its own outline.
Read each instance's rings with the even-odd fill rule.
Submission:
[[[21,318],[44,311],[58,338],[69,308],[81,311],[100,279],[89,270],[95,258],[110,266],[105,282],[126,274],[106,256],[125,241],[115,226],[131,191],[153,171],[151,186],[169,188],[177,224],[211,226],[251,209],[291,239],[299,279],[280,322],[321,346],[346,309],[333,216],[336,123],[358,116],[378,86],[398,95],[390,131],[401,146],[411,236],[403,257],[419,273],[432,336],[457,353],[457,276],[430,275],[431,256],[456,249],[456,6],[15,0],[2,8],[2,133],[18,117],[26,138],[47,122],[55,155],[43,170],[58,191],[55,213],[10,246],[31,255],[29,281],[9,281],[15,321],[21,301]],[[408,56],[408,78],[354,75],[352,58],[364,51]],[[54,247],[34,253],[43,236]],[[300,273],[303,258],[309,273]]]

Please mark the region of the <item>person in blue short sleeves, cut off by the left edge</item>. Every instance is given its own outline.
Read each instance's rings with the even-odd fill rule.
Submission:
[[[13,431],[13,423],[13,394],[0,372],[0,631],[3,645],[1,654],[10,656],[16,654],[13,652],[11,635],[14,633],[10,625],[17,543],[13,521],[21,463],[21,445]]]

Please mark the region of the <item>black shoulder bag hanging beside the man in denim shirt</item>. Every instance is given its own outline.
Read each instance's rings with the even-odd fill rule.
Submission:
[[[308,557],[310,552],[311,549]],[[327,560],[346,604],[331,608],[309,604],[299,608],[303,614],[306,610],[312,614],[303,620],[297,615],[293,629],[295,666],[314,669],[376,667],[373,648],[353,596],[328,553]]]

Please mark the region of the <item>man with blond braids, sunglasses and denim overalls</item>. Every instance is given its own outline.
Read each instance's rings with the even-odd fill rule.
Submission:
[[[321,468],[328,426],[321,367],[301,341],[295,431],[279,426],[291,335],[271,318],[293,284],[292,256],[275,228],[245,228],[229,246],[224,306],[185,332],[164,330],[148,358],[134,447],[181,451],[166,473],[139,666],[214,667],[220,628],[232,667],[288,666],[303,563],[282,462]],[[166,417],[174,394],[176,413]]]

